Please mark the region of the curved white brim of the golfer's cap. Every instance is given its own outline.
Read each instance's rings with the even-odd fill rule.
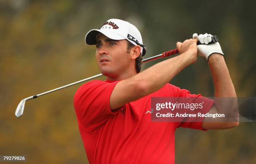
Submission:
[[[93,29],[90,30],[84,38],[84,41],[87,45],[95,45],[96,44],[96,37],[99,33],[102,33],[103,35],[105,35],[106,37],[113,39],[113,40],[123,40],[126,39],[125,37],[116,34],[115,32],[111,32],[111,31],[106,31],[106,30],[97,30],[97,29]]]

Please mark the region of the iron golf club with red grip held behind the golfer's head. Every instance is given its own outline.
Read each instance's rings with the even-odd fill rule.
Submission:
[[[216,35],[212,36],[212,41],[209,42],[208,44],[212,44],[212,43],[215,43],[215,42],[218,42],[218,37]],[[201,45],[201,43],[198,41],[197,45]],[[146,62],[149,62],[149,61],[152,61],[152,60],[159,59],[161,57],[168,57],[168,56],[171,56],[171,55],[174,55],[174,54],[177,54],[177,53],[179,53],[179,50],[177,48],[175,48],[173,50],[166,51],[162,54],[144,59],[144,60],[142,60],[142,62],[146,63]],[[36,94],[36,95],[30,96],[30,97],[27,97],[27,98],[21,100],[20,103],[18,104],[18,107],[16,108],[16,111],[15,111],[15,116],[20,117],[23,114],[26,100],[35,99],[35,98],[40,97],[44,94],[55,92],[57,90],[60,90],[60,89],[66,88],[66,87],[70,87],[72,85],[79,84],[79,83],[85,82],[87,80],[92,80],[92,79],[94,79],[96,77],[100,77],[100,76],[102,76],[102,74],[98,74],[98,75],[95,75],[95,76],[92,76],[92,77],[88,77],[86,79],[83,79],[83,80],[80,80],[80,81],[77,81],[77,82],[73,82],[71,84],[67,84],[67,85],[64,85],[64,86],[56,88],[56,89],[52,89],[52,90],[49,90],[49,91],[46,91],[46,92],[43,92],[43,93],[40,93],[40,94]]]

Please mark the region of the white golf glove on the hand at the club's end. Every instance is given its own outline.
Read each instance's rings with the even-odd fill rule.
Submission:
[[[199,36],[196,33],[193,34],[193,39],[195,39],[197,37],[198,37],[198,40],[200,41],[200,43],[205,44],[205,45],[197,45],[197,53],[200,56],[205,57],[207,61],[208,61],[208,57],[212,53],[219,53],[224,56],[219,42],[208,45],[208,43],[212,41],[211,34],[205,33],[204,35],[200,34]]]

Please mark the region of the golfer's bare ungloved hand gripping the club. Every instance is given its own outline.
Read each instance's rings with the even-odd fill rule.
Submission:
[[[185,55],[189,59],[189,63],[197,61],[197,38],[189,39],[182,42],[176,43],[177,49],[181,55]]]

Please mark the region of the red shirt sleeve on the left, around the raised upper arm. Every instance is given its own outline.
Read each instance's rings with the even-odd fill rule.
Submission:
[[[83,84],[75,93],[77,120],[87,132],[94,131],[118,112],[113,113],[110,109],[110,96],[118,82],[93,80]]]

